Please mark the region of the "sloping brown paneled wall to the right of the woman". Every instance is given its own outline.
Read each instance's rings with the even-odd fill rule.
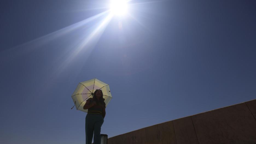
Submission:
[[[256,144],[256,99],[110,137],[108,144]]]

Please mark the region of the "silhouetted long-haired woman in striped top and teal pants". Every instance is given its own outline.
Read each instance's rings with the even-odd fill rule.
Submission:
[[[83,107],[85,110],[88,109],[88,113],[85,117],[86,144],[92,144],[93,134],[93,143],[101,143],[100,129],[106,115],[106,104],[104,100],[102,91],[98,89],[95,90],[92,98],[86,100]]]

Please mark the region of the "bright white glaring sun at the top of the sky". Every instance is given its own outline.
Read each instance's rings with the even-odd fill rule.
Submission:
[[[126,0],[111,0],[110,11],[114,15],[124,16],[127,13],[128,5]]]

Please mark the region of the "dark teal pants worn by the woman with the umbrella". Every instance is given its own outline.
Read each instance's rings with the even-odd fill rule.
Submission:
[[[94,144],[101,143],[100,129],[104,122],[104,118],[100,114],[87,114],[85,117],[85,136],[86,144],[92,144],[92,137]]]

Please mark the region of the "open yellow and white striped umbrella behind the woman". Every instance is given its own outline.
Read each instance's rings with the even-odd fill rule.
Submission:
[[[74,106],[76,107],[76,109],[87,113],[88,109],[84,110],[83,106],[85,105],[85,102],[87,99],[93,97],[93,93],[97,89],[102,90],[103,98],[105,99],[104,102],[106,103],[106,107],[107,107],[109,101],[112,99],[109,85],[106,83],[103,83],[97,78],[93,78],[91,80],[78,83],[74,93],[71,96],[71,98],[74,101],[74,104],[75,104]]]

